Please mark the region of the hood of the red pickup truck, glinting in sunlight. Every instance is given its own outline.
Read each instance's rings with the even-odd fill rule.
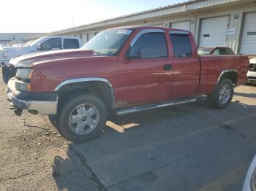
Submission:
[[[83,49],[70,49],[70,50],[55,50],[48,52],[39,52],[29,55],[22,55],[17,58],[12,58],[11,65],[15,67],[32,67],[42,63],[48,63],[52,61],[66,61],[74,58],[88,58],[97,57],[94,55],[93,50]]]

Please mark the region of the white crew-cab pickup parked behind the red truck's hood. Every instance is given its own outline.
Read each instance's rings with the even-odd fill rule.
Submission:
[[[48,50],[79,48],[81,46],[82,40],[80,38],[69,36],[43,36],[34,42],[31,42],[27,46],[3,47],[2,50],[0,50],[1,66],[8,66],[11,58],[18,57],[20,55]]]

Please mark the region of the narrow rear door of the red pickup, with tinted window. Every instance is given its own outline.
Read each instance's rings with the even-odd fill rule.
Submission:
[[[172,97],[185,97],[197,93],[200,61],[195,53],[193,37],[187,31],[170,31],[173,46]]]

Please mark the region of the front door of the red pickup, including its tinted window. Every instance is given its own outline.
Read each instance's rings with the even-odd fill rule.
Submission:
[[[164,30],[144,29],[138,32],[127,56],[118,60],[119,105],[144,104],[170,98],[170,59]]]

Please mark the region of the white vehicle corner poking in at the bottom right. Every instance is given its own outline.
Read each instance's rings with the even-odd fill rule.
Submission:
[[[256,190],[256,156],[253,158],[251,165],[244,180],[242,191],[255,191]]]

